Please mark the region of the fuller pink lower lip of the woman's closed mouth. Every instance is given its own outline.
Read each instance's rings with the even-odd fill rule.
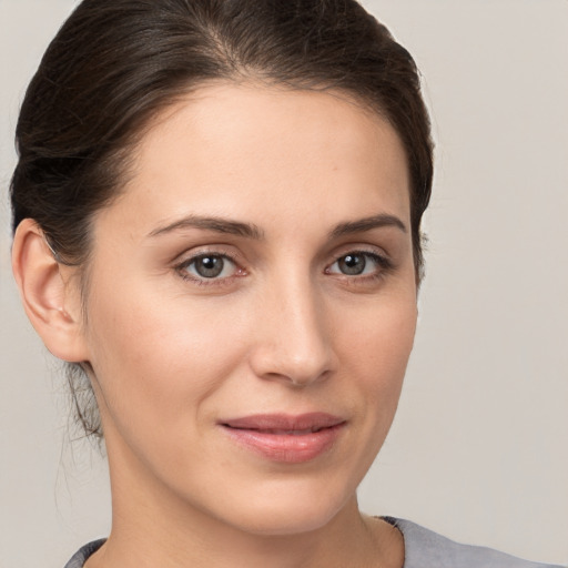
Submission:
[[[302,464],[315,459],[336,443],[345,423],[322,428],[311,434],[268,434],[261,430],[231,428],[225,432],[241,446],[268,458],[286,464]]]

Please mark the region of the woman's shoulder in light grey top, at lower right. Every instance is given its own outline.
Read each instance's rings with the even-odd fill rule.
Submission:
[[[404,568],[561,568],[520,560],[490,548],[460,545],[409,520],[385,520],[404,536]]]

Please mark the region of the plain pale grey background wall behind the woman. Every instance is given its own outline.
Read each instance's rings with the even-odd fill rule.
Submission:
[[[61,568],[109,531],[105,464],[70,444],[57,364],[11,281],[19,103],[74,2],[0,0],[0,566]],[[425,77],[437,150],[415,352],[359,496],[568,564],[568,2],[367,0]]]

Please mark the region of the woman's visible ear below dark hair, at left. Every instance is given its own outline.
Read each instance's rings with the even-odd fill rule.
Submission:
[[[45,347],[63,361],[88,361],[77,268],[58,263],[31,219],[23,220],[16,231],[12,271],[23,308]]]

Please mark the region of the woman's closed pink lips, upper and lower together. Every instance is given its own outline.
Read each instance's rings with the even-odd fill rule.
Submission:
[[[329,449],[345,420],[326,413],[257,414],[220,425],[236,443],[274,462],[301,464]]]

